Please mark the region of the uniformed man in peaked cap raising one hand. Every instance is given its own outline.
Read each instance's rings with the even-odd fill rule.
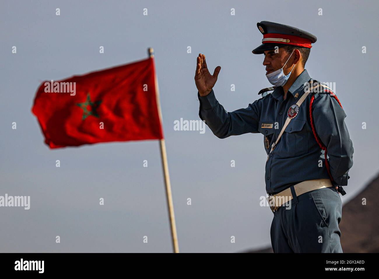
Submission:
[[[199,116],[220,139],[263,134],[274,252],[342,253],[339,194],[345,194],[341,186],[348,184],[354,152],[346,114],[334,92],[313,86],[318,82],[304,69],[316,36],[275,22],[257,27],[263,39],[252,53],[265,55],[266,77],[274,87],[261,90],[264,97],[247,108],[227,112],[213,91],[221,67],[211,75],[199,54]]]

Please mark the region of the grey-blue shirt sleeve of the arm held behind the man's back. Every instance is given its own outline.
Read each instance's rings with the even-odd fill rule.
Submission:
[[[322,93],[314,99],[312,109],[316,132],[327,148],[330,174],[338,185],[345,186],[354,153],[345,111],[334,97]]]

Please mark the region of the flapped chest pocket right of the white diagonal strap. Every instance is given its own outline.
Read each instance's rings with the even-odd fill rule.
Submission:
[[[298,157],[308,153],[308,133],[305,120],[292,119],[285,128],[278,148],[279,156]]]

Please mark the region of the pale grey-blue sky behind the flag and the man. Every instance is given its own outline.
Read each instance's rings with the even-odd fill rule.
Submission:
[[[273,213],[259,206],[266,195],[263,136],[218,139],[208,127],[204,134],[174,131],[175,120],[199,120],[194,73],[200,52],[211,73],[222,68],[213,89],[228,111],[247,107],[260,98],[260,89],[270,86],[263,55],[251,52],[261,43],[256,24],[262,20],[318,38],[305,68],[313,79],[336,83],[354,147],[343,202],[377,173],[377,1],[0,5],[0,195],[30,195],[30,210],[0,207],[2,252],[172,251],[158,141],[50,150],[31,113],[43,80],[141,60],[148,47],[155,50],[180,251],[239,252],[271,245]],[[143,16],[144,8],[148,16]],[[231,84],[236,91],[230,91]],[[147,168],[143,160],[148,160]],[[57,235],[61,243],[55,242]]]

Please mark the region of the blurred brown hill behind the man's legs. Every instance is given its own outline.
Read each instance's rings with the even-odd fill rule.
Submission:
[[[345,189],[349,189],[345,187]],[[379,174],[342,206],[341,246],[344,253],[379,252]],[[366,199],[366,205],[362,205]],[[273,253],[271,246],[245,253]]]

